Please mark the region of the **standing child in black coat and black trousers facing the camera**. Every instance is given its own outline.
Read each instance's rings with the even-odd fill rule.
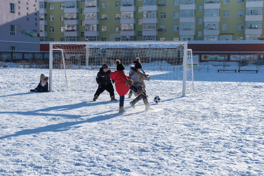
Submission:
[[[117,101],[114,98],[114,89],[113,89],[112,81],[110,79],[110,73],[111,71],[108,69],[108,66],[106,64],[104,64],[100,68],[96,76],[96,82],[98,84],[98,88],[93,96],[93,99],[92,99],[93,101],[96,101],[99,95],[103,93],[103,91],[105,90],[107,90],[110,93],[111,101]]]

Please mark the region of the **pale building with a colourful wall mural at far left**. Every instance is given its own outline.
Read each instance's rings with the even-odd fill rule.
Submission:
[[[39,51],[38,0],[1,0],[0,50]]]

